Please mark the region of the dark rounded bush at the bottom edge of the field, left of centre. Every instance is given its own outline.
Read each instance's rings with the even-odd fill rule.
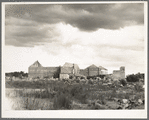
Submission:
[[[61,94],[55,97],[54,109],[71,109],[71,100],[66,94]]]

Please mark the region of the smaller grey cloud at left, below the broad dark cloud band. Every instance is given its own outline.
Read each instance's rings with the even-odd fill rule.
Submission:
[[[17,47],[33,47],[56,41],[59,33],[49,27],[40,26],[6,26],[5,44]],[[56,37],[54,37],[56,36]]]

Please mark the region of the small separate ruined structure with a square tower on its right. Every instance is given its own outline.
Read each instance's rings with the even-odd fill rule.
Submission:
[[[120,70],[113,70],[113,80],[125,79],[125,67],[120,67]]]

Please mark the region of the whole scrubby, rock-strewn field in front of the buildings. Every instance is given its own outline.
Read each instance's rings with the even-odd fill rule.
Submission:
[[[143,84],[103,80],[6,80],[15,110],[144,109]]]

